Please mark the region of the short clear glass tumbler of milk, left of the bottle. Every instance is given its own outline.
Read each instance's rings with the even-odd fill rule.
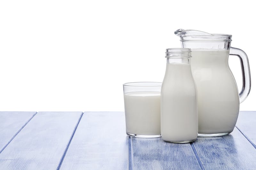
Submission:
[[[160,82],[125,83],[126,134],[132,137],[161,137]]]

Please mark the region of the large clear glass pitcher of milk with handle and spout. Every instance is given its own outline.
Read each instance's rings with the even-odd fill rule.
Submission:
[[[236,125],[239,104],[251,89],[247,55],[230,47],[232,35],[210,34],[179,29],[182,48],[191,48],[191,70],[197,87],[198,136],[213,137],[231,133]],[[235,78],[228,66],[229,55],[239,57],[243,87],[238,92]]]

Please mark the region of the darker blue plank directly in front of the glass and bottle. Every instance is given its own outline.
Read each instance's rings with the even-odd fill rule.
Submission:
[[[190,144],[131,138],[132,169],[201,169]]]

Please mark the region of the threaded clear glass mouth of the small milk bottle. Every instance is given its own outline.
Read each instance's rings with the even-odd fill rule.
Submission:
[[[189,58],[191,57],[190,48],[167,48],[165,50],[166,58]]]

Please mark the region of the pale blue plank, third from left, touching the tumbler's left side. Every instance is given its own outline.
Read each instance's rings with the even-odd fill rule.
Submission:
[[[60,169],[128,169],[123,112],[84,112]]]

